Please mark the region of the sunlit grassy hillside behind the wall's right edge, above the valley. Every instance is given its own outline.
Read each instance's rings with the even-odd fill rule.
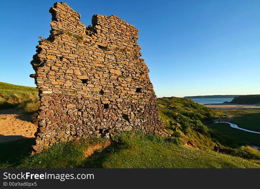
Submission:
[[[158,106],[161,119],[166,124],[168,132],[173,136],[181,138],[182,141],[192,140],[196,146],[202,149],[213,149],[216,144],[221,145],[216,139],[212,139],[207,128],[197,128],[196,124],[200,123],[202,125],[201,122],[204,121],[211,121],[218,117],[228,117],[225,113],[212,110],[188,98],[158,98]],[[188,117],[186,124],[189,124],[190,127],[186,135],[180,132],[179,114]]]

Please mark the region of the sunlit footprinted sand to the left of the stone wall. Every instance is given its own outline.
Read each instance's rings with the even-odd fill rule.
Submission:
[[[17,109],[0,110],[0,143],[23,138],[34,138],[37,126],[30,122],[31,115]]]

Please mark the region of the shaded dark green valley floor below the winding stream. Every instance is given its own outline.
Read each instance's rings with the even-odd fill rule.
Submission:
[[[215,131],[215,133],[212,133],[212,138],[221,144],[226,144],[233,148],[246,144],[260,146],[260,134],[232,128],[228,123],[211,123],[207,126],[212,131]]]

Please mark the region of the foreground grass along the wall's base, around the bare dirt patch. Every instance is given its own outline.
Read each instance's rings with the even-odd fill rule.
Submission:
[[[88,140],[61,142],[40,154],[26,156],[27,150],[17,159],[13,158],[15,161],[5,162],[10,159],[8,156],[15,157],[17,152],[13,151],[13,154],[5,153],[6,157],[1,156],[0,165],[2,168],[260,168],[259,160],[197,150],[176,145],[176,140],[141,133],[121,133],[106,149],[86,158],[84,151],[89,144]],[[6,149],[12,147],[10,145]]]

